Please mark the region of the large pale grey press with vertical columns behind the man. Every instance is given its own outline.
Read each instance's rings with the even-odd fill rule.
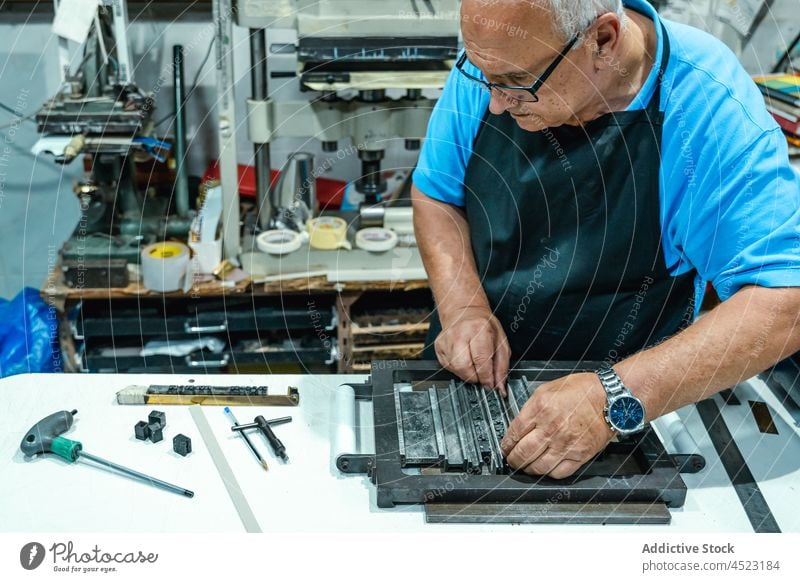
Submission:
[[[270,143],[281,137],[312,137],[323,151],[348,150],[361,161],[343,208],[373,208],[395,188],[381,171],[386,148],[403,140],[408,150],[420,148],[434,100],[426,89],[444,86],[458,45],[458,1],[411,2],[408,10],[369,0],[219,0],[220,46],[230,34],[235,15],[250,29],[252,95],[247,100],[248,138],[254,144],[257,230],[275,226],[270,199]],[[267,47],[266,29],[291,29],[296,42]],[[231,127],[232,60],[227,47],[220,59],[220,156],[223,196],[236,188]],[[279,100],[270,96],[268,56],[293,56],[301,91],[310,99]],[[285,77],[286,72],[280,76]],[[346,142],[350,141],[350,144]],[[227,169],[226,169],[227,168]],[[400,180],[402,185],[402,180]],[[235,212],[232,204],[225,207]],[[284,209],[277,209],[285,215]],[[376,211],[371,211],[370,226]],[[380,211],[377,213],[380,214]],[[225,222],[230,224],[232,217]],[[233,256],[234,233],[226,233],[227,256]]]

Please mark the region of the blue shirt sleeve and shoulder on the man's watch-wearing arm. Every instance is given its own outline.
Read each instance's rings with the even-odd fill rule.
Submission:
[[[662,236],[673,275],[725,300],[800,286],[800,175],[755,83],[719,41],[673,25],[662,152]],[[672,66],[672,65],[671,65]]]

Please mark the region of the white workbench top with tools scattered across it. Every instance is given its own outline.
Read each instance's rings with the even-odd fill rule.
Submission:
[[[669,526],[512,526],[428,525],[417,506],[379,509],[375,490],[365,476],[342,476],[333,466],[331,437],[336,387],[361,382],[354,375],[178,376],[178,375],[23,375],[0,380],[0,531],[5,532],[241,532],[244,528],[222,479],[192,421],[188,407],[158,406],[167,416],[164,441],[137,441],[133,427],[152,406],[119,406],[115,394],[130,384],[262,385],[270,393],[300,390],[298,407],[238,407],[240,423],[258,414],[293,417],[275,428],[286,445],[290,463],[279,463],[258,434],[254,442],[270,464],[265,472],[252,453],[230,431],[221,407],[203,411],[231,465],[253,512],[265,532],[348,531],[636,531],[752,532],[750,523],[725,470],[693,407],[681,417],[701,453],[706,468],[684,475],[689,487],[686,504],[672,510]],[[800,532],[800,434],[788,413],[758,380],[740,386],[742,406],[726,406],[725,420],[734,432],[764,496],[784,532]],[[776,418],[779,435],[762,435],[746,400],[766,401]],[[88,463],[67,464],[52,455],[26,460],[19,443],[26,431],[59,410],[77,409],[73,428],[65,435],[84,449],[110,461],[152,474],[191,489],[192,499],[112,475]],[[658,424],[656,423],[656,428]],[[183,458],[172,452],[172,438],[192,439],[193,452]],[[370,451],[371,452],[371,451]],[[520,529],[521,528],[521,529]]]

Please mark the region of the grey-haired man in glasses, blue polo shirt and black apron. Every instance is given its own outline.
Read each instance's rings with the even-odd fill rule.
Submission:
[[[511,466],[569,476],[800,350],[800,183],[724,45],[644,0],[461,17],[412,191],[435,354],[501,392],[510,360],[604,363],[534,392]]]

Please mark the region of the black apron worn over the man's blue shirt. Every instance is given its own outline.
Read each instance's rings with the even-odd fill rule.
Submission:
[[[489,303],[519,360],[614,362],[691,323],[694,271],[673,277],[661,246],[659,168],[669,61],[644,110],[583,127],[521,129],[487,110],[464,192]],[[425,356],[441,331],[434,313]]]

